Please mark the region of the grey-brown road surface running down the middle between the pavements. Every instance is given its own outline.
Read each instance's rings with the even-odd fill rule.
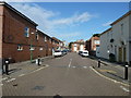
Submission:
[[[46,69],[3,82],[3,96],[128,96],[124,86],[96,74],[97,62],[68,53],[45,61]]]

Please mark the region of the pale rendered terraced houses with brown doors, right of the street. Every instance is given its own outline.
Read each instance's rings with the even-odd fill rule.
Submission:
[[[111,28],[102,33],[100,36],[100,57],[109,59],[115,57],[117,62],[131,61],[131,32],[130,32],[131,11],[111,23]]]

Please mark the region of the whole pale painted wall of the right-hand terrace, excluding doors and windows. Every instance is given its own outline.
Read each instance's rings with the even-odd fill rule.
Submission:
[[[123,24],[122,29],[121,29],[121,24]],[[109,59],[109,54],[107,52],[109,51],[109,53],[116,54],[116,59],[117,61],[119,61],[119,47],[121,48],[126,47],[126,52],[127,52],[126,61],[129,62],[129,52],[131,51],[129,50],[129,46],[130,46],[129,38],[131,39],[131,33],[130,34],[129,33],[130,33],[129,16],[114,24],[111,30],[108,30],[107,33],[100,36],[100,48],[99,48],[100,57],[105,59]],[[110,42],[111,38],[115,39],[112,44]],[[122,45],[121,41],[123,41],[124,45]],[[122,57],[122,61],[123,61],[123,57]]]

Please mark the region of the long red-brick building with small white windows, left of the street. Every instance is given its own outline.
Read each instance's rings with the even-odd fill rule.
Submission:
[[[38,25],[5,2],[0,2],[0,60],[13,62],[52,54],[52,38]]]

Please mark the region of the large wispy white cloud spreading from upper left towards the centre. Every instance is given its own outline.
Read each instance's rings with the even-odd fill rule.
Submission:
[[[60,12],[53,12],[39,7],[36,3],[10,3],[20,12],[38,24],[38,28],[49,36],[58,37],[73,37],[79,36],[80,33],[64,33],[61,34],[59,29],[69,29],[71,26],[78,26],[82,23],[88,22],[94,15],[88,12],[75,13],[69,17],[61,17]],[[57,17],[57,19],[56,19]],[[58,19],[59,17],[59,19]],[[58,34],[60,33],[60,34]]]

